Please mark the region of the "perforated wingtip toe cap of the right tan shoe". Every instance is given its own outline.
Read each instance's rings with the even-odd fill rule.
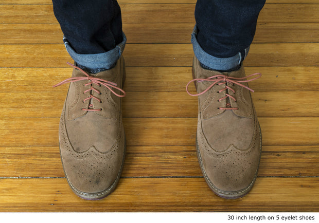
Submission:
[[[260,151],[252,148],[239,151],[230,146],[222,153],[210,151],[200,157],[209,187],[224,196],[245,194],[252,188],[259,166]]]

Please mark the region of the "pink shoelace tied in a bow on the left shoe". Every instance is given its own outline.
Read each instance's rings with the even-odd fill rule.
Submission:
[[[107,81],[107,80],[103,80],[103,79],[101,79],[101,78],[92,77],[92,76],[88,75],[88,74],[87,74],[84,70],[82,70],[81,68],[79,68],[79,67],[77,67],[77,66],[75,66],[75,65],[73,65],[73,64],[71,64],[71,63],[69,63],[69,62],[67,62],[67,64],[70,65],[70,66],[72,66],[72,67],[74,67],[74,68],[76,68],[76,69],[78,69],[78,70],[80,70],[82,73],[84,73],[85,77],[68,78],[68,79],[65,79],[64,81],[62,81],[62,82],[60,82],[60,83],[54,85],[53,87],[58,87],[58,86],[60,86],[60,85],[62,85],[62,84],[71,83],[71,82],[89,81],[88,83],[84,84],[84,86],[91,85],[91,88],[85,90],[85,91],[84,91],[84,94],[86,94],[86,92],[88,92],[88,91],[93,90],[93,91],[95,91],[98,95],[100,95],[101,92],[93,87],[93,84],[95,84],[95,85],[98,85],[98,86],[103,85],[103,86],[107,87],[107,88],[108,88],[114,95],[116,95],[117,97],[123,98],[123,97],[126,96],[126,92],[125,92],[124,90],[122,90],[121,88],[117,87],[117,84],[116,84],[116,83],[113,83],[113,82]],[[123,95],[117,94],[112,88],[115,88],[115,89],[121,91],[121,92],[123,93]],[[100,103],[102,102],[100,99],[98,99],[97,97],[93,96],[92,93],[90,94],[90,97],[84,99],[83,102],[85,102],[85,101],[87,101],[87,100],[91,100],[91,99],[95,99],[95,100],[97,100],[97,101],[100,102]],[[92,108],[93,106],[94,106],[93,104],[90,104],[90,105],[88,105],[89,108],[82,108],[82,110],[91,111],[91,112],[97,112],[97,111],[102,110],[102,108],[93,109],[93,108]]]

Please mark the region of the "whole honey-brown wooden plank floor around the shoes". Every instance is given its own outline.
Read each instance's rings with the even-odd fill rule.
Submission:
[[[119,0],[128,44],[127,158],[116,191],[77,197],[64,177],[58,125],[73,62],[49,0],[0,4],[0,212],[319,211],[319,1],[269,0],[246,74],[263,135],[243,198],[210,191],[198,164],[191,80],[195,0]],[[174,2],[174,4],[171,4]]]

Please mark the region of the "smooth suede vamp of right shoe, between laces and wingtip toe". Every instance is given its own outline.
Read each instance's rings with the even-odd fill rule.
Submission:
[[[230,145],[239,150],[250,147],[254,135],[254,119],[236,116],[232,110],[202,119],[202,131],[209,145],[216,151],[225,151]]]

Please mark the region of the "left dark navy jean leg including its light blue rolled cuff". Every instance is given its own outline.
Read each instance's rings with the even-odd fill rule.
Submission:
[[[67,52],[89,72],[112,68],[126,44],[116,0],[52,0]]]

